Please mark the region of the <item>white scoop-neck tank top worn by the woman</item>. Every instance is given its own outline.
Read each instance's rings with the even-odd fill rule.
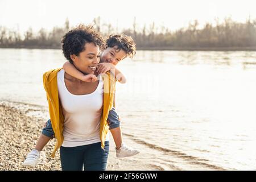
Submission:
[[[100,119],[103,109],[104,82],[100,81],[94,92],[84,95],[70,93],[64,81],[65,71],[57,74],[59,99],[63,107],[63,147],[76,147],[101,142]],[[106,141],[109,140],[109,134]]]

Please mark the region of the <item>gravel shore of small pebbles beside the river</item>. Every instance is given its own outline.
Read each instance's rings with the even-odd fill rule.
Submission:
[[[35,168],[22,166],[28,152],[35,146],[47,118],[46,107],[0,101],[0,171],[61,170],[59,151],[55,158],[50,156],[55,139],[52,139],[41,152],[38,166]],[[126,136],[123,136],[123,139],[129,141]],[[159,170],[159,168],[151,164],[139,163],[133,157],[116,158],[114,142],[110,137],[107,170]]]

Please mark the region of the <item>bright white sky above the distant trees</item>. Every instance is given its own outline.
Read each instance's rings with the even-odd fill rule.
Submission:
[[[132,27],[134,17],[139,28],[144,24],[149,27],[154,21],[156,27],[176,30],[195,19],[200,24],[214,22],[216,17],[231,17],[238,22],[245,22],[249,15],[256,19],[255,7],[255,0],[0,0],[0,26],[20,31],[29,27],[35,31],[41,27],[50,30],[53,26],[64,26],[66,18],[75,26],[92,23],[101,16],[102,23],[112,23],[118,31]]]

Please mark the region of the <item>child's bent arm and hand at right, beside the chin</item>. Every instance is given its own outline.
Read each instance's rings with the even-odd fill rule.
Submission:
[[[111,71],[111,73],[113,73],[114,71],[114,76],[115,78],[117,78],[117,80],[121,83],[121,84],[125,84],[126,83],[126,78],[125,75],[123,75],[123,73],[121,71],[119,71],[119,69],[115,68],[115,66],[111,63],[100,63],[98,64],[98,68],[97,68],[97,73],[106,73],[107,71]]]

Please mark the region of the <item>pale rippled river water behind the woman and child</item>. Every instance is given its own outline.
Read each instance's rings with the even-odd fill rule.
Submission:
[[[47,107],[42,75],[64,61],[61,50],[0,49],[0,100]],[[152,149],[137,160],[256,170],[256,52],[138,51],[118,68],[123,133]]]

